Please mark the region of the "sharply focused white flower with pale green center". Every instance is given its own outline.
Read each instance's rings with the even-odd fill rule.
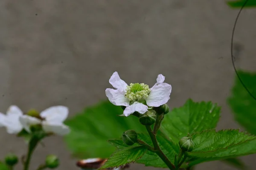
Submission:
[[[109,101],[117,106],[126,106],[124,115],[129,116],[135,111],[144,114],[149,107],[159,107],[168,102],[172,86],[164,83],[165,77],[159,74],[157,83],[149,88],[144,83],[131,83],[129,86],[114,72],[109,83],[116,89],[107,88],[106,96]],[[145,100],[146,105],[143,102]]]

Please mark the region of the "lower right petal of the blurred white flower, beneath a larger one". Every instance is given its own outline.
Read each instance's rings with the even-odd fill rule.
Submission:
[[[58,135],[66,135],[70,133],[70,129],[68,126],[64,124],[51,124],[48,122],[43,122],[43,129],[45,132],[52,132]]]

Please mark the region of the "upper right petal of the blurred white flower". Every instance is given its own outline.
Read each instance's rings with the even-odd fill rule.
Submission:
[[[68,108],[65,106],[52,106],[40,113],[42,118],[45,118],[47,122],[63,122],[67,119]]]

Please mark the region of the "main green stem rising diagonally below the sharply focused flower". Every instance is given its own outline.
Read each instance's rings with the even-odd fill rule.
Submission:
[[[146,129],[148,130],[148,134],[152,140],[154,149],[156,150],[155,153],[157,153],[157,155],[164,161],[164,163],[169,167],[170,170],[175,170],[175,166],[172,164],[172,162],[166,157],[166,155],[160,149],[160,147],[157,143],[156,135],[152,132],[150,125],[146,125]]]

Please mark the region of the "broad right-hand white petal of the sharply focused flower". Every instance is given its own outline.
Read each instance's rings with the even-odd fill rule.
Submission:
[[[172,92],[172,86],[167,83],[161,83],[151,89],[146,102],[148,106],[159,107],[168,102],[170,94]]]

